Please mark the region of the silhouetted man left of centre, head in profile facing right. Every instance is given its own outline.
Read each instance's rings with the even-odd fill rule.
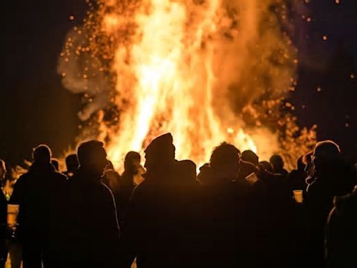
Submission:
[[[69,181],[68,251],[63,267],[116,267],[119,225],[112,192],[102,184],[108,164],[102,142],[83,142],[79,168]]]

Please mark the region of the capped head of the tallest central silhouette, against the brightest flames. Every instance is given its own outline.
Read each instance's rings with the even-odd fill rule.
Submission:
[[[175,161],[175,147],[171,133],[156,137],[145,149],[146,170],[170,165]]]

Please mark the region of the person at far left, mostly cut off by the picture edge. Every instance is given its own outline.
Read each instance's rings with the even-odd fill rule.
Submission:
[[[0,159],[0,186],[6,175],[5,162]],[[0,188],[0,268],[5,267],[8,250],[6,248],[6,229],[7,229],[7,211],[8,201]]]

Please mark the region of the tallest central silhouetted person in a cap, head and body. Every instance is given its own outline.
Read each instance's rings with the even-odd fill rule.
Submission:
[[[179,172],[170,133],[153,140],[145,150],[144,181],[132,194],[123,227],[123,267],[137,258],[137,267],[188,267],[190,243],[185,238],[190,211],[180,198]]]

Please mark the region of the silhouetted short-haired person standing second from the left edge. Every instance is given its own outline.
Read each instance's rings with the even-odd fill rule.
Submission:
[[[17,179],[10,204],[19,204],[17,235],[23,246],[23,267],[47,267],[56,244],[59,221],[56,211],[61,207],[66,177],[51,164],[47,145],[33,149],[29,172]]]

